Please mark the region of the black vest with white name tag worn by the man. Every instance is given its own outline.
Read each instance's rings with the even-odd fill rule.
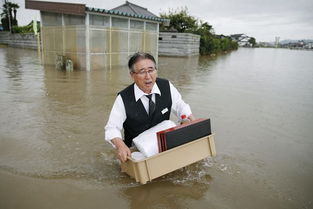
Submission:
[[[161,96],[155,94],[155,111],[149,116],[145,110],[141,99],[136,102],[134,83],[119,92],[121,95],[126,111],[126,120],[123,124],[125,144],[130,147],[133,138],[144,132],[145,130],[157,125],[158,123],[170,118],[172,97],[169,81],[157,78],[156,83],[160,89]],[[168,111],[162,114],[162,110]],[[164,111],[163,111],[164,112]]]

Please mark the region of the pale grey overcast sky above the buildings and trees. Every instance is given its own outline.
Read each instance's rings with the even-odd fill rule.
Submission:
[[[4,0],[0,0],[3,4]],[[28,24],[39,12],[25,9],[24,0],[11,0],[20,5],[19,25]],[[55,0],[50,0],[55,1]],[[112,9],[125,0],[58,0],[82,3],[89,7]],[[57,2],[57,1],[55,1]],[[313,39],[313,0],[130,0],[159,15],[169,9],[187,7],[189,14],[211,24],[216,34],[244,33],[257,41]]]

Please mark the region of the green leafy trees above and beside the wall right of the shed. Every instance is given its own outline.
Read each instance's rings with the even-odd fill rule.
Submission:
[[[188,14],[187,8],[169,10],[168,13],[161,13],[160,16],[170,19],[169,26],[160,26],[160,31],[187,32],[200,35],[200,54],[216,54],[238,48],[237,42],[232,41],[228,36],[215,35],[212,25],[199,21]]]

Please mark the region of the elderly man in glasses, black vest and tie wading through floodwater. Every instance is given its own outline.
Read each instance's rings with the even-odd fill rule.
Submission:
[[[168,80],[157,77],[156,62],[148,53],[135,53],[128,61],[134,83],[118,93],[107,125],[105,140],[116,148],[117,157],[125,162],[132,140],[145,130],[169,120],[170,113],[181,118],[194,116],[177,89]],[[121,130],[124,128],[122,140]]]

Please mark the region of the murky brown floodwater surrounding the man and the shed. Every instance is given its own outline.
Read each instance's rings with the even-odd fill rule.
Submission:
[[[217,156],[140,185],[103,139],[126,68],[62,72],[0,47],[0,208],[312,208],[312,66],[286,49],[160,57]]]

